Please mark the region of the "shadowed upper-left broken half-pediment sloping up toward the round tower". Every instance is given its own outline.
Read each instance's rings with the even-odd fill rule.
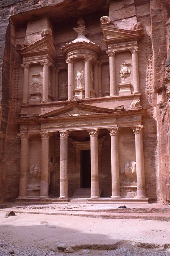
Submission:
[[[55,46],[52,42],[52,37],[50,35],[45,36],[44,38],[41,38],[40,40],[36,41],[33,44],[30,44],[29,46],[24,47],[23,49],[20,49],[19,52],[21,55],[26,54],[39,54],[39,52],[44,51],[48,52],[50,51],[52,55],[56,56],[57,52],[55,49]]]

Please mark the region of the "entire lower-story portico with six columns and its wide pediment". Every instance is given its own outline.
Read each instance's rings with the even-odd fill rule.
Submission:
[[[18,200],[68,201],[80,195],[89,201],[147,202],[144,113],[73,102],[20,119]]]

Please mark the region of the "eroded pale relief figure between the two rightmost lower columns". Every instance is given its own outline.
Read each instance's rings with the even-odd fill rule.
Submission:
[[[127,182],[133,182],[135,183],[136,180],[136,162],[135,161],[131,161],[129,163],[129,161],[127,161],[127,163],[124,166],[124,174],[127,178]]]

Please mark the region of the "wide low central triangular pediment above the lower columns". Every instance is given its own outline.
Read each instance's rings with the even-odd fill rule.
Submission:
[[[120,110],[109,109],[109,108],[99,108],[91,105],[86,105],[82,103],[73,102],[66,105],[63,108],[50,111],[39,118],[49,118],[49,117],[64,117],[64,116],[85,116],[85,115],[96,115],[101,113],[120,113]]]

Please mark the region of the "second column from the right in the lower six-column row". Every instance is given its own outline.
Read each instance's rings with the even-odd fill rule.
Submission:
[[[120,177],[118,159],[118,127],[107,128],[111,144],[112,198],[120,198]]]

